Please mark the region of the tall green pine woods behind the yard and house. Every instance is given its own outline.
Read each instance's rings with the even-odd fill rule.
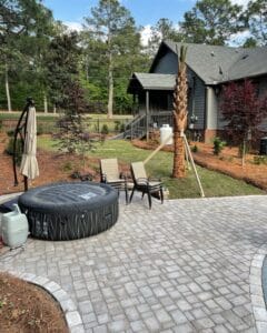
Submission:
[[[142,27],[118,0],[100,0],[80,32],[69,31],[38,0],[0,0],[0,109],[21,110],[26,98],[38,111],[70,105],[82,97],[86,112],[130,113],[127,84],[149,70],[164,39],[215,46],[267,44],[267,1],[247,8],[229,0],[201,0],[182,21],[161,18],[148,44]]]

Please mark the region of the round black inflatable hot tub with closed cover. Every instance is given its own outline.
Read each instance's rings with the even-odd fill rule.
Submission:
[[[119,214],[118,191],[102,183],[53,183],[19,196],[30,234],[50,241],[82,239],[112,226]]]

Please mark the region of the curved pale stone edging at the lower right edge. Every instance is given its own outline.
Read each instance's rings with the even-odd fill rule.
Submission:
[[[267,311],[263,290],[263,264],[267,255],[267,245],[264,244],[254,255],[249,272],[250,297],[253,312],[258,333],[267,332]]]

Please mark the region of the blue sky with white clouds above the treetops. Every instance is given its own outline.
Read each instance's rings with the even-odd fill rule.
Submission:
[[[234,3],[246,6],[248,0],[231,0]],[[43,0],[43,4],[52,10],[53,18],[62,21],[72,29],[80,29],[85,17],[99,3],[98,0]],[[144,27],[142,42],[150,36],[150,27],[159,19],[167,18],[178,24],[184,13],[195,6],[196,0],[120,0],[135,18],[138,27]]]

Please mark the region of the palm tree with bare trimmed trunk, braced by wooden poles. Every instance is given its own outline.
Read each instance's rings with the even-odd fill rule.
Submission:
[[[178,53],[178,50],[177,50]],[[187,127],[187,48],[181,46],[178,58],[178,75],[174,92],[174,178],[186,176],[184,132]]]

